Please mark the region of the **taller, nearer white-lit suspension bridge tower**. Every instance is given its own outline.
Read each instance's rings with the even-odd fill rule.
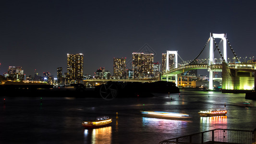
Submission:
[[[209,60],[207,61],[208,65],[212,65],[214,64],[214,38],[220,38],[221,41],[223,42],[223,58],[224,61],[227,61],[227,39],[226,39],[226,35],[227,34],[214,34],[214,33],[210,33],[210,37],[209,37]],[[209,89],[213,89],[213,71],[209,68],[208,69],[209,72]]]

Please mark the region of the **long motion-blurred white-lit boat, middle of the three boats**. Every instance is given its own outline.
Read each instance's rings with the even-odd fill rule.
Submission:
[[[164,112],[164,111],[141,111],[142,115],[151,118],[160,119],[186,119],[190,118],[188,114],[176,113],[176,112]]]

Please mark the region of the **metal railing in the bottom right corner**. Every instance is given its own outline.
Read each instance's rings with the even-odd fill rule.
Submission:
[[[214,129],[164,140],[159,144],[214,144],[215,142],[253,144],[254,133],[254,131]]]

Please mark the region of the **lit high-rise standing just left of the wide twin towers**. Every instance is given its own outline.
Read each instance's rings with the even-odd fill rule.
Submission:
[[[123,79],[126,77],[126,58],[114,58],[114,78]]]

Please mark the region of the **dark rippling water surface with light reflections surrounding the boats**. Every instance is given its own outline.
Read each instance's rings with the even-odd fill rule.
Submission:
[[[181,95],[101,98],[7,97],[0,103],[1,144],[158,144],[160,141],[217,128],[254,130],[256,101],[244,94],[181,90]],[[172,100],[171,100],[172,96]],[[209,97],[208,97],[209,96]],[[0,96],[3,98],[3,96]],[[250,107],[242,105],[244,101]],[[224,107],[226,103],[226,107]],[[200,110],[226,108],[227,116],[200,117]],[[190,121],[143,117],[141,110],[189,114]],[[83,120],[116,117],[110,127],[84,129]],[[50,118],[50,119],[49,119]],[[13,139],[15,136],[15,139]]]

